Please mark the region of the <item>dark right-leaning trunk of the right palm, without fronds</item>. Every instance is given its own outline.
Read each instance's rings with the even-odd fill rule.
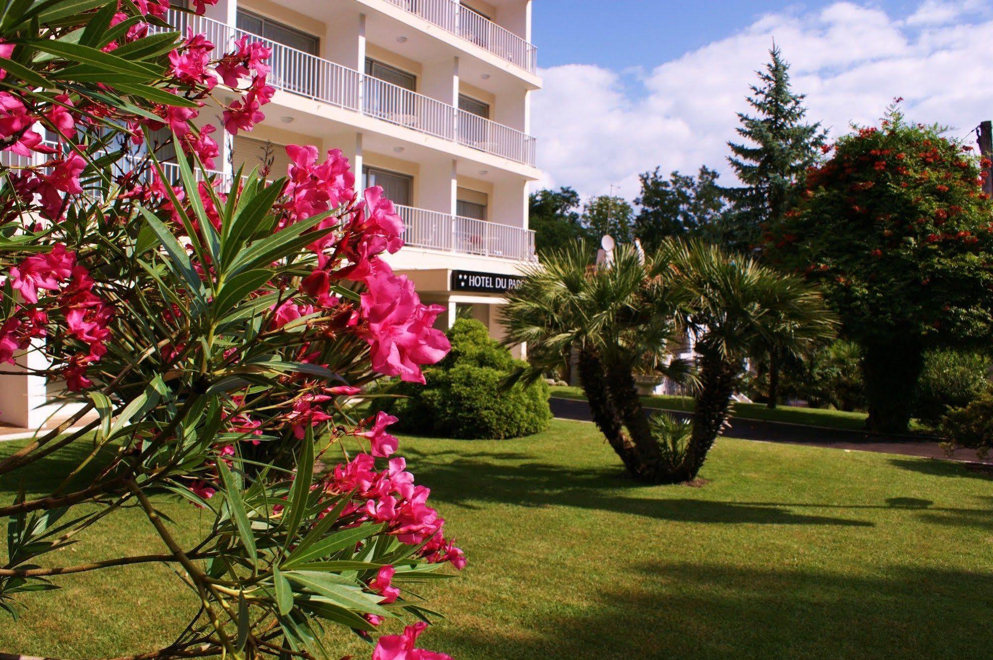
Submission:
[[[678,474],[679,481],[696,478],[714,441],[724,431],[731,410],[731,397],[741,371],[737,363],[727,361],[716,352],[701,354],[699,364],[700,390],[693,410],[693,430],[686,460]]]

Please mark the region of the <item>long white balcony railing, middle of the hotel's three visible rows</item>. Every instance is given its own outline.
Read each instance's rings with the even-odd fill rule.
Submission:
[[[516,129],[213,19],[173,10],[168,20],[184,34],[188,28],[206,34],[221,50],[245,35],[262,42],[272,49],[267,81],[278,89],[534,165],[534,138]]]

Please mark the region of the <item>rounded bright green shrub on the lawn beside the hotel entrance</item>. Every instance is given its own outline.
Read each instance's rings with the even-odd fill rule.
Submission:
[[[486,326],[460,319],[448,332],[452,350],[424,369],[424,386],[394,383],[403,398],[379,399],[379,407],[400,418],[396,429],[444,438],[503,440],[544,431],[552,418],[548,385],[542,381],[506,389],[504,379],[526,366],[490,337]]]

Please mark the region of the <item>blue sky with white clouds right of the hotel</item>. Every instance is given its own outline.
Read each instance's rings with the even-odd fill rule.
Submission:
[[[993,119],[993,0],[536,0],[539,186],[638,194],[638,173],[730,177],[727,141],[775,39],[833,135],[894,97],[968,137]]]

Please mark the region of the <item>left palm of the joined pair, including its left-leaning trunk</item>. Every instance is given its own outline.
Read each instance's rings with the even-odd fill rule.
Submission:
[[[669,362],[667,348],[679,330],[685,294],[669,277],[669,264],[631,246],[615,250],[614,263],[598,268],[584,241],[544,253],[511,292],[503,310],[506,341],[527,342],[529,372],[537,378],[575,351],[580,383],[593,420],[628,471],[658,483],[669,469],[641,407],[636,368],[671,377],[685,365]]]

